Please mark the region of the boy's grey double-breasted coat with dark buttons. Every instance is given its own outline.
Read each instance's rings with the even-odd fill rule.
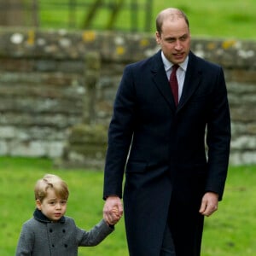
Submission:
[[[96,246],[112,231],[104,220],[85,231],[69,217],[58,223],[31,218],[23,224],[16,256],[77,256],[78,247]]]

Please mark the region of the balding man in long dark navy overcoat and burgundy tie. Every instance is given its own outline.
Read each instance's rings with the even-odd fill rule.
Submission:
[[[224,72],[191,52],[181,10],[161,11],[156,26],[160,51],[125,67],[113,105],[103,212],[114,218],[123,198],[131,256],[199,256],[204,216],[218,209],[229,162]]]

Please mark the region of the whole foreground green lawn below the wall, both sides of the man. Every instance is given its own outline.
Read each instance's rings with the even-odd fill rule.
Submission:
[[[102,218],[102,172],[56,170],[46,159],[0,157],[0,255],[15,254],[21,225],[34,210],[33,186],[45,173],[55,173],[70,189],[67,215],[89,230]],[[202,256],[256,255],[256,166],[230,167],[224,201],[206,218]],[[79,256],[128,256],[123,219],[97,247],[79,248]]]

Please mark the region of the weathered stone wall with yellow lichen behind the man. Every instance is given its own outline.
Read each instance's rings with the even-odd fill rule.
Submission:
[[[224,67],[232,118],[230,163],[256,164],[256,42],[192,41],[196,55]],[[0,155],[66,155],[74,161],[85,155],[84,166],[97,159],[102,167],[123,68],[157,49],[151,34],[1,29]]]

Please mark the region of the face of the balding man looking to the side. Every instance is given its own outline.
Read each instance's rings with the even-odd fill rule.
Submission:
[[[164,20],[162,32],[156,32],[156,42],[168,61],[179,64],[189,55],[190,32],[184,19]]]

